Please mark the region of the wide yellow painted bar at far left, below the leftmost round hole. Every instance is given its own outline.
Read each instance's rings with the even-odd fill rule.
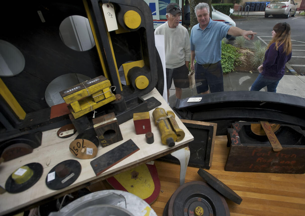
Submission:
[[[0,78],[0,94],[6,101],[6,103],[9,104],[13,112],[18,116],[19,119],[24,119],[26,113],[24,112],[23,108],[20,106],[20,104],[17,102],[13,94],[9,91],[9,89],[6,87],[2,79]]]

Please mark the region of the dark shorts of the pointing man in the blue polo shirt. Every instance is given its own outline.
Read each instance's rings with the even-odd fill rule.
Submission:
[[[224,80],[221,62],[214,64],[199,65],[195,64],[195,80],[197,93],[224,91]]]

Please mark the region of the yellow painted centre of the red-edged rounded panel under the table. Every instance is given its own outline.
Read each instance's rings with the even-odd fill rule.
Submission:
[[[138,174],[137,177],[135,177]],[[150,197],[155,190],[152,176],[146,164],[113,176],[129,192],[141,199]]]

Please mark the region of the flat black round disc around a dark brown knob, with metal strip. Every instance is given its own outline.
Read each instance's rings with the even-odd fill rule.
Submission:
[[[62,165],[66,167],[68,172],[66,172],[64,176],[59,177],[56,173],[57,170],[56,168]],[[62,168],[60,170],[62,170]],[[54,177],[55,177],[54,179],[49,177],[49,174],[52,175],[52,172],[54,172]],[[59,190],[75,182],[80,174],[81,174],[81,164],[78,161],[76,160],[62,161],[50,170],[47,177],[45,178],[45,184],[47,185],[48,188],[52,190]]]

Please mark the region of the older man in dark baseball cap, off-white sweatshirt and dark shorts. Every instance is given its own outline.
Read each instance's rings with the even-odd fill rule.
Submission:
[[[191,48],[188,30],[179,25],[181,12],[178,4],[168,4],[166,7],[167,22],[155,30],[155,34],[164,35],[167,100],[172,80],[174,80],[176,97],[179,99],[181,99],[182,88],[189,87],[188,64]]]

